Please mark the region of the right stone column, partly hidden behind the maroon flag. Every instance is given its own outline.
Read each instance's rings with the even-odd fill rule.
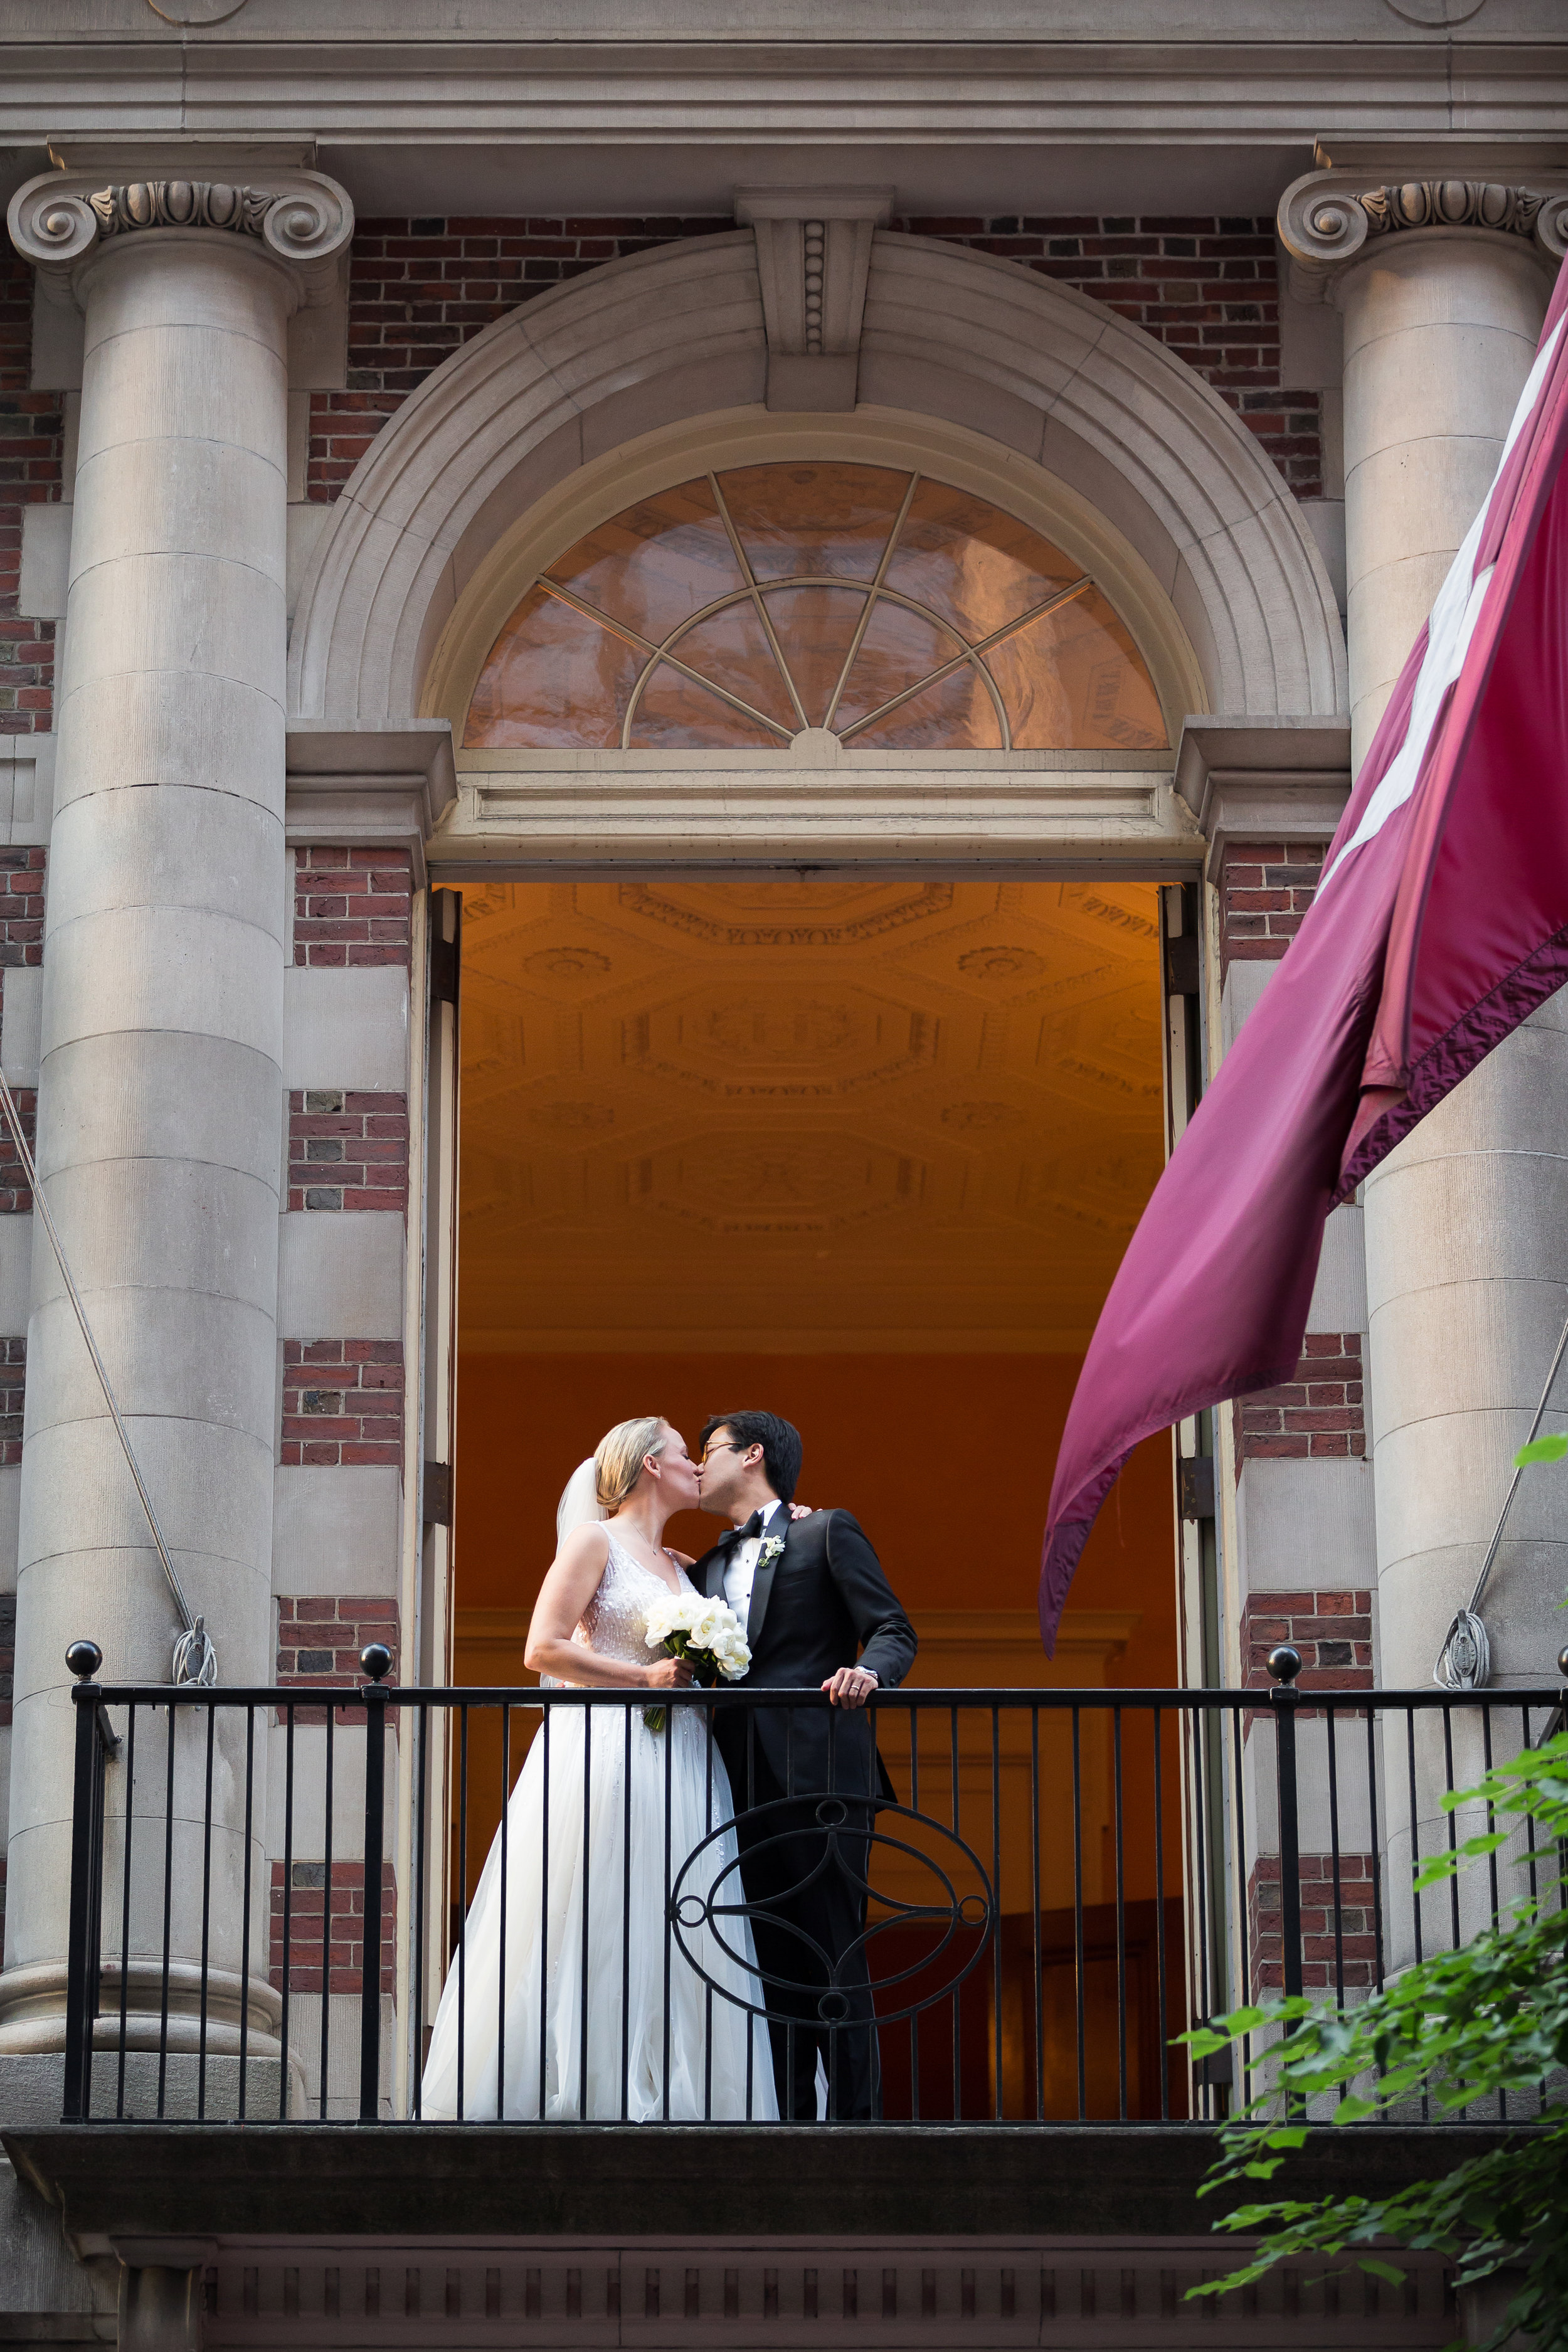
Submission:
[[[1298,282],[1345,315],[1352,760],[1490,487],[1563,249],[1563,200],[1314,174],[1286,195]],[[1568,1308],[1568,1007],[1549,1002],[1368,1178],[1378,1679],[1427,1684],[1472,1592]],[[1568,1592],[1568,1482],[1526,1482],[1493,1569],[1493,1682],[1542,1682]],[[1436,1719],[1429,1729],[1441,1748]],[[1403,1740],[1403,1726],[1399,1731]],[[1462,1743],[1465,1745],[1465,1743]],[[1458,1776],[1479,1773],[1455,1755]],[[1425,1759],[1422,1851],[1443,1835]],[[1389,1755],[1389,1867],[1408,1884],[1408,1769]],[[1446,1900],[1446,1898],[1443,1898]],[[1408,1905],[1403,1905],[1408,1912]],[[1399,1938],[1394,1957],[1401,1957]]]

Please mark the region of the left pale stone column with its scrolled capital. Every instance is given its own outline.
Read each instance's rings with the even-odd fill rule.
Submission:
[[[268,1682],[277,1399],[287,320],[353,226],[317,174],[268,188],[49,174],[12,238],[85,310],[38,1169],[221,1682]],[[63,1649],[167,1682],[179,1621],[42,1230],[21,1468],[9,1938],[0,2049],[61,2034],[71,1856]],[[212,1769],[207,2046],[266,1943],[263,1731]],[[158,2009],[162,1726],[139,1726],[132,2011]],[[195,2039],[205,1726],[174,1733],[172,2032]],[[118,1952],[125,1773],[110,1769]],[[261,1978],[266,1969],[261,1966]],[[252,1983],[252,2032],[266,1985]],[[118,2006],[118,1962],[106,2009]],[[143,2016],[134,2039],[158,2037]],[[256,2046],[256,2044],[252,2044]]]

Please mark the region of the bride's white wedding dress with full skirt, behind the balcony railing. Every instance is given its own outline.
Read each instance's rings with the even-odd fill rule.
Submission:
[[[604,1534],[609,1562],[574,1639],[585,1639],[604,1658],[646,1665],[646,1611],[670,1588],[616,1543],[609,1529]],[[684,1569],[682,1585],[693,1590]],[[534,1736],[508,1804],[505,1983],[496,1832],[435,2013],[421,2093],[428,2122],[458,2114],[458,1987],[463,2114],[475,2122],[778,2119],[766,2023],[738,2006],[762,2004],[750,1922],[722,1919],[722,1943],[705,1924],[682,1926],[679,1936],[675,1929],[665,1933],[668,1886],[679,1879],[684,1860],[710,1830],[733,1818],[733,1806],[708,1712],[675,1705],[665,1710],[665,1729],[649,1731],[644,1708],[656,1705],[658,1696],[632,1693],[625,1708],[545,1710],[548,1722]],[[545,1733],[548,1896],[541,1903]],[[686,1919],[693,1905],[684,1896],[708,1896],[726,1870],[719,1903],[743,1900],[733,1860],[736,1832],[729,1828],[703,1851],[698,1877],[682,1884]],[[724,1999],[703,1983],[684,1957],[682,1940],[715,1985],[729,1987],[736,1999]]]

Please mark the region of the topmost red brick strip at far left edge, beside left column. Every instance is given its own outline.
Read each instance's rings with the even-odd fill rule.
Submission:
[[[61,494],[63,393],[33,393],[33,270],[0,254],[0,734],[49,734],[54,621],[16,614],[21,510]]]

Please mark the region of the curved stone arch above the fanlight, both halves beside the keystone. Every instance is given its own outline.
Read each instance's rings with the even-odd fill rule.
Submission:
[[[294,713],[411,717],[468,583],[538,499],[651,430],[757,409],[764,383],[750,230],[611,261],[498,318],[343,489],[294,621]],[[1211,710],[1342,710],[1345,640],[1295,499],[1140,327],[1011,261],[879,233],[860,405],[978,433],[1091,501],[1168,600]]]

